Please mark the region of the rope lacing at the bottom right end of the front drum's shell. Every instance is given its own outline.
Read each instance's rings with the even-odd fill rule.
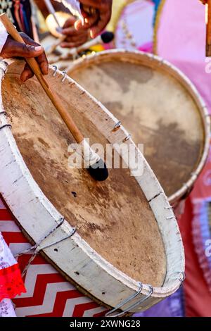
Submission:
[[[153,294],[153,287],[151,285],[147,285],[147,286],[149,287],[150,291],[145,297],[141,298],[139,301],[136,301],[134,304],[132,304],[129,307],[127,307],[126,309],[124,309],[124,311],[121,311],[120,313],[117,313],[117,314],[113,314],[113,313],[115,313],[115,311],[120,309],[125,304],[128,304],[130,301],[132,301],[136,296],[138,296],[141,293],[141,291],[143,289],[143,284],[141,282],[139,282],[138,291],[136,293],[132,294],[131,296],[129,296],[127,299],[124,299],[122,302],[120,302],[120,304],[115,306],[115,308],[113,308],[111,311],[106,313],[106,317],[120,317],[120,316],[123,316],[124,314],[128,313],[130,310],[135,308],[136,306],[139,306],[139,304],[143,304],[143,302],[146,301],[148,298],[150,298],[151,295]],[[111,314],[113,314],[113,315],[111,315]]]

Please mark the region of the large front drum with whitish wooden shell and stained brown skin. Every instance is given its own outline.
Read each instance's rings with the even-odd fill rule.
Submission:
[[[24,63],[8,64],[1,61],[0,190],[36,251],[106,307],[134,313],[174,293],[184,275],[181,236],[141,152],[138,177],[127,161],[105,182],[68,167],[72,135],[36,78],[20,82]],[[46,79],[91,144],[134,146],[77,83],[53,68]]]

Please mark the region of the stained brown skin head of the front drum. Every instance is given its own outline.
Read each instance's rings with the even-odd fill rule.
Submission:
[[[151,72],[145,73],[142,80],[149,77]],[[49,84],[51,80],[84,136],[90,138],[91,144],[106,146],[108,141],[98,125],[72,109],[71,93],[63,92],[62,85],[56,86],[53,75],[48,77]],[[134,280],[162,286],[166,275],[162,236],[129,170],[110,169],[106,182],[96,182],[87,170],[69,168],[68,145],[74,142],[70,132],[36,78],[20,82],[16,64],[10,65],[4,77],[2,98],[20,154],[51,204],[115,268]]]

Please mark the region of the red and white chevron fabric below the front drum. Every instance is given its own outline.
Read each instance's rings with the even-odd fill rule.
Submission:
[[[0,231],[13,254],[30,247],[15,219],[0,198]],[[31,254],[18,258],[23,270]],[[13,299],[20,316],[89,317],[104,316],[105,308],[80,293],[41,256],[36,256],[24,277],[27,292]]]

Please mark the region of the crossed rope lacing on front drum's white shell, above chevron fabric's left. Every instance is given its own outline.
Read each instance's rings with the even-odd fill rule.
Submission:
[[[53,228],[51,228],[46,235],[44,235],[41,239],[38,240],[37,244],[34,244],[34,246],[31,246],[29,249],[25,249],[24,251],[21,251],[20,253],[15,255],[15,258],[18,258],[19,256],[23,255],[23,254],[27,254],[30,253],[30,251],[34,251],[30,260],[28,261],[27,265],[25,266],[22,276],[25,275],[25,273],[27,273],[28,268],[30,267],[30,264],[32,263],[32,261],[34,260],[34,258],[37,256],[37,254],[39,254],[39,251],[41,251],[42,249],[46,249],[50,246],[53,246],[55,244],[58,244],[59,242],[62,242],[65,239],[68,239],[70,237],[72,237],[72,235],[75,234],[76,232],[76,228],[72,227],[72,230],[70,231],[70,233],[68,233],[67,236],[63,237],[63,238],[59,238],[54,242],[50,242],[49,244],[46,244],[44,246],[41,246],[41,243],[44,242],[45,239],[47,239],[53,232],[55,232],[58,227],[60,227],[65,221],[65,218],[60,218],[59,219],[59,223],[56,224],[56,226],[54,225]]]

